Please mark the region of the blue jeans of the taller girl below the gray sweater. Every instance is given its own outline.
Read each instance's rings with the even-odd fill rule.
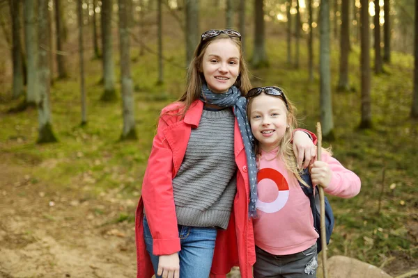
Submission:
[[[181,278],[206,278],[209,277],[212,266],[213,251],[217,229],[215,227],[189,227],[178,225],[178,237],[180,238],[181,250],[178,252],[180,258]],[[144,215],[144,239],[146,251],[150,254],[151,262],[157,275],[158,258],[153,254],[153,237]]]

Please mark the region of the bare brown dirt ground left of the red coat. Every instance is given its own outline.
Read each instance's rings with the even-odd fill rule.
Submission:
[[[54,191],[30,175],[0,163],[0,277],[136,276],[134,225],[114,221],[136,201]]]

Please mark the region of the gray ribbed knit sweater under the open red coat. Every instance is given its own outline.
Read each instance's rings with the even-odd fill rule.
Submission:
[[[173,179],[178,224],[228,227],[236,193],[234,124],[231,108],[203,110],[199,126],[192,129]]]

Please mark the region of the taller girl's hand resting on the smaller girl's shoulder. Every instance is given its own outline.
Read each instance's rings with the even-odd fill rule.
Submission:
[[[304,131],[295,131],[293,134],[293,152],[299,169],[306,168],[315,161],[316,146]]]

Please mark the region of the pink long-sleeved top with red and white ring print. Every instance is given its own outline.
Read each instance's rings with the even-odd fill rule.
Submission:
[[[359,193],[361,183],[356,174],[326,153],[323,153],[322,161],[327,162],[332,170],[326,193],[346,198]],[[254,220],[256,245],[275,255],[306,250],[318,238],[309,198],[296,177],[277,158],[277,149],[262,152],[258,163],[258,218]]]

